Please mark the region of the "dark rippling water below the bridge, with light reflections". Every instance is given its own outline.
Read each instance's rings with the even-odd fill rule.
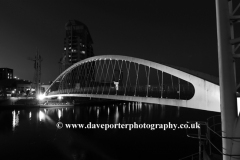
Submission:
[[[219,113],[136,102],[0,109],[0,159],[179,159],[198,152],[198,140],[188,138],[185,129],[69,129],[65,124],[180,125],[214,115]]]

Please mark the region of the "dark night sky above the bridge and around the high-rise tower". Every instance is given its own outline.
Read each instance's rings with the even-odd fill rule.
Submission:
[[[125,55],[218,75],[214,0],[1,0],[0,67],[33,80],[38,48],[42,81],[54,80],[65,24],[89,28],[95,55]]]

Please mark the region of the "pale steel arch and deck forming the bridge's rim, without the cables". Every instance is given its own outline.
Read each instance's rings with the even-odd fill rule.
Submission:
[[[97,61],[97,60],[123,60],[138,63],[144,66],[148,66],[154,68],[156,70],[163,71],[165,73],[174,75],[179,77],[194,86],[195,94],[190,100],[176,100],[176,99],[163,99],[163,98],[150,98],[150,97],[133,97],[133,96],[120,96],[120,95],[96,95],[96,94],[62,94],[62,96],[73,96],[73,97],[96,97],[96,98],[107,98],[107,99],[119,99],[119,100],[127,100],[127,101],[140,101],[147,103],[156,103],[163,105],[173,105],[173,106],[181,106],[195,109],[202,109],[208,111],[220,112],[220,90],[219,86],[199,78],[197,76],[191,75],[189,73],[183,72],[181,70],[159,64],[156,62],[151,62],[148,60],[134,58],[129,56],[121,56],[121,55],[101,55],[90,57],[79,61],[72,66],[70,66],[67,70],[61,73],[50,85],[50,87],[46,90],[45,94],[51,88],[51,86],[62,76],[66,75],[68,72],[73,70],[74,68],[88,62]],[[53,97],[54,95],[48,95],[46,97]],[[57,96],[57,95],[55,95]]]

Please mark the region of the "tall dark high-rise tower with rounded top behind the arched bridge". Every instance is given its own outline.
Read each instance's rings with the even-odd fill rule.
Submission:
[[[92,38],[85,24],[70,20],[65,25],[64,53],[60,59],[60,72],[85,58],[94,56]]]

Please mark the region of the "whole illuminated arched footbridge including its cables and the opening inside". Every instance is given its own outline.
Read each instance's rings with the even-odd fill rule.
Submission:
[[[48,98],[93,97],[220,112],[219,86],[207,76],[199,78],[193,73],[134,57],[102,55],[73,64],[44,94]]]

